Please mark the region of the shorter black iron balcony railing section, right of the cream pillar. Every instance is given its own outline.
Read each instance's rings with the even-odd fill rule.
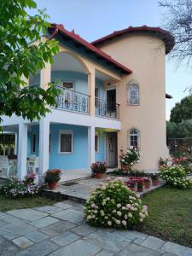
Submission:
[[[108,119],[119,119],[119,104],[96,97],[96,116]]]

